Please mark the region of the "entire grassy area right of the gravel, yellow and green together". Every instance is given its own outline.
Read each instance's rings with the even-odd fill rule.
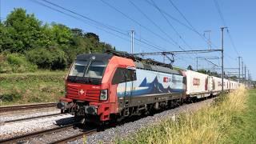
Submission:
[[[116,143],[255,143],[256,90],[241,88],[213,106],[180,114]]]

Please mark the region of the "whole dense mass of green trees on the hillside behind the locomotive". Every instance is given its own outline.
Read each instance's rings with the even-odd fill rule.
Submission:
[[[65,69],[77,54],[103,53],[113,49],[99,42],[97,34],[58,24],[42,24],[34,14],[14,9],[6,22],[0,23],[0,53],[9,51],[26,55],[42,69]]]

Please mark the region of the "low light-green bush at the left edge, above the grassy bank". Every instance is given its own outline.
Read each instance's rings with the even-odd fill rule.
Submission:
[[[38,66],[27,61],[22,54],[1,54],[0,73],[34,72]]]

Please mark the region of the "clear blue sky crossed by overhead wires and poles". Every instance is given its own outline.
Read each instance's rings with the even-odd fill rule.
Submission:
[[[102,42],[129,53],[130,30],[135,31],[134,53],[142,53],[163,50],[209,50],[208,33],[205,33],[205,38],[203,35],[206,30],[210,30],[211,49],[220,49],[220,27],[227,26],[228,31],[224,30],[224,67],[238,68],[238,56],[241,56],[252,78],[254,80],[256,78],[254,64],[256,1],[254,0],[51,0],[50,2],[82,17],[78,18],[78,15],[70,11],[65,13],[72,17],[62,14],[55,10],[61,12],[65,10],[42,0],[0,0],[0,17],[4,20],[14,8],[22,7],[28,14],[35,14],[43,23],[57,22],[70,28],[80,28],[84,32],[93,32],[98,34]],[[216,2],[224,22],[218,13]],[[175,54],[174,66],[186,68],[191,65],[196,69],[196,57],[220,58],[221,53]],[[162,56],[145,56],[145,58],[168,62]],[[207,62],[206,59],[198,58],[198,69],[220,70],[220,59],[208,59],[208,61],[215,65]],[[225,71],[226,74],[238,74],[236,69]]]

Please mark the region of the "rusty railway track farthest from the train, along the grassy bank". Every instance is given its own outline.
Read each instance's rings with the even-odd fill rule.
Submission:
[[[54,106],[56,106],[55,102],[37,103],[37,104],[30,104],[30,105],[17,105],[17,106],[0,106],[0,113],[9,112],[9,111],[40,109],[40,108],[54,107]]]

